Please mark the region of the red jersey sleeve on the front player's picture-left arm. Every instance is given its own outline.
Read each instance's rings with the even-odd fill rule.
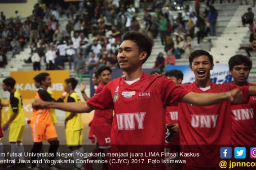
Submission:
[[[104,86],[101,93],[94,95],[90,98],[86,103],[89,107],[99,109],[99,110],[107,110],[113,109],[114,102],[111,95],[111,82]]]

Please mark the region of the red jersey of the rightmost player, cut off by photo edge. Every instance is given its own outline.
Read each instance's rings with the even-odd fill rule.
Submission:
[[[231,84],[234,85],[233,82]],[[247,83],[247,86],[256,86]],[[241,105],[231,106],[232,118],[232,145],[256,144],[256,96],[251,96],[249,101]]]

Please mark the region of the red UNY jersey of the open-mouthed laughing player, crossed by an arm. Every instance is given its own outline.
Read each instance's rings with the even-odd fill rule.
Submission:
[[[221,93],[239,88],[243,91],[243,102],[247,102],[247,86],[212,83],[211,88],[206,91],[201,90],[196,82],[181,86],[195,93]],[[231,140],[231,102],[211,106],[194,106],[179,102],[178,107],[181,152],[199,153],[199,157],[187,157],[189,160],[186,164],[197,167],[219,167],[219,146],[230,145]]]

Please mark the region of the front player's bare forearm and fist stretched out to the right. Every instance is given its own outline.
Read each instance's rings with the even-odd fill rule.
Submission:
[[[243,94],[239,89],[233,89],[223,93],[187,93],[180,100],[181,102],[198,106],[208,106],[225,101],[240,103],[243,101]]]

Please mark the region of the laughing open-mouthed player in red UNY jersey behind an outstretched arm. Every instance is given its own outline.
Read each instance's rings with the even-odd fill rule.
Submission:
[[[207,51],[194,51],[189,61],[195,82],[182,84],[185,89],[195,93],[221,93],[239,88],[243,91],[243,102],[247,102],[248,95],[255,95],[255,87],[212,83],[210,71],[214,66],[213,57]],[[189,157],[183,169],[219,168],[220,150],[216,145],[230,144],[232,104],[226,101],[211,106],[194,106],[179,102],[181,152],[200,154],[200,157]]]

